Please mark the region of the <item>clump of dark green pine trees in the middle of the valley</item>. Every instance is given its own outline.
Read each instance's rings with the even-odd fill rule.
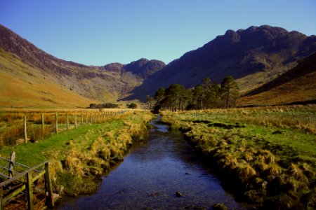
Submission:
[[[230,108],[236,105],[239,87],[232,76],[226,76],[218,84],[204,78],[202,84],[186,89],[183,85],[172,84],[160,87],[154,97],[147,96],[150,110],[183,111],[190,109]]]

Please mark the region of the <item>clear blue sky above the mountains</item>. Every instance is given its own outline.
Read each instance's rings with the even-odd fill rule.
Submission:
[[[81,64],[169,63],[227,29],[272,25],[316,34],[316,1],[0,0],[0,24]]]

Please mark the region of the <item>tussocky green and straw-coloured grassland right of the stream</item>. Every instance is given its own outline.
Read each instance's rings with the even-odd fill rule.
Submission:
[[[316,108],[163,113],[239,199],[264,209],[316,208]]]

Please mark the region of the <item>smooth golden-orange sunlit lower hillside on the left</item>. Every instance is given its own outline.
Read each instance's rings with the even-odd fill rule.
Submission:
[[[39,69],[0,48],[0,107],[75,108],[96,100],[58,85]]]

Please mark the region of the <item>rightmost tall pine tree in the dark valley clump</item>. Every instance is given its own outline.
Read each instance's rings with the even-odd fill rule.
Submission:
[[[221,98],[225,102],[226,109],[235,106],[238,90],[238,85],[232,76],[226,76],[222,83],[220,83]]]

